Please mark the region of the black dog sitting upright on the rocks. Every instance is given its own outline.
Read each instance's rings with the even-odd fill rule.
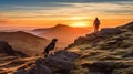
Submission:
[[[49,52],[54,49],[57,41],[57,39],[53,39],[52,42],[44,49],[44,52],[42,53],[44,56],[48,56]]]

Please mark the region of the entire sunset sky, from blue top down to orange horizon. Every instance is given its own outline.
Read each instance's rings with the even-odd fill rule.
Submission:
[[[133,21],[133,0],[0,0],[0,27],[103,27]],[[110,24],[109,24],[110,23]]]

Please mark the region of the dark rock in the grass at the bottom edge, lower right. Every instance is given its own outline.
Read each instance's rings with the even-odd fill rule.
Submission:
[[[114,62],[98,61],[89,66],[89,74],[98,72],[99,74],[111,74],[115,67]]]

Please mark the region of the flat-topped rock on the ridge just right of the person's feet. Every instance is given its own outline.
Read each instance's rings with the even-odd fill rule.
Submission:
[[[99,35],[111,35],[111,34],[119,34],[121,30],[117,28],[104,28],[98,34]]]

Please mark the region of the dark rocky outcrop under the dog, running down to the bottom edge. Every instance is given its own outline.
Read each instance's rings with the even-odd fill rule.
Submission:
[[[74,68],[73,61],[79,56],[76,53],[68,51],[58,51],[54,54],[49,55],[45,59],[38,59],[35,66],[28,70],[19,70],[14,74],[69,74]],[[24,74],[24,73],[23,73]]]

